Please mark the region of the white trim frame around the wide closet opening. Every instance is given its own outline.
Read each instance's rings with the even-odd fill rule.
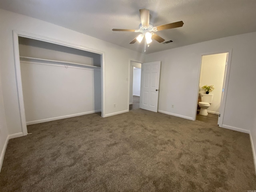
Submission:
[[[100,50],[95,50],[92,48],[87,48],[77,44],[72,44],[69,42],[64,42],[61,40],[56,40],[53,38],[48,38],[45,36],[40,36],[37,34],[31,34],[24,31],[13,30],[13,45],[14,45],[14,63],[15,63],[15,73],[16,73],[16,85],[18,90],[18,103],[20,110],[20,122],[22,127],[23,136],[28,134],[28,129],[26,125],[26,116],[22,92],[22,79],[21,79],[21,70],[20,70],[20,52],[19,52],[19,41],[18,37],[25,37],[34,40],[40,40],[44,42],[49,42],[52,44],[58,44],[70,48],[80,49],[88,52],[93,52],[101,55],[101,116],[105,117],[105,52]]]

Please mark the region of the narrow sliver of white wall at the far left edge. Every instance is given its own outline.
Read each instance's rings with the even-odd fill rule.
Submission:
[[[4,152],[8,142],[8,130],[6,126],[4,100],[2,94],[2,83],[0,79],[0,170],[4,160]]]

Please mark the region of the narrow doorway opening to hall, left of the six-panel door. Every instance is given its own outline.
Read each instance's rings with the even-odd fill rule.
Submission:
[[[140,108],[141,63],[130,61],[130,100],[129,110]]]

